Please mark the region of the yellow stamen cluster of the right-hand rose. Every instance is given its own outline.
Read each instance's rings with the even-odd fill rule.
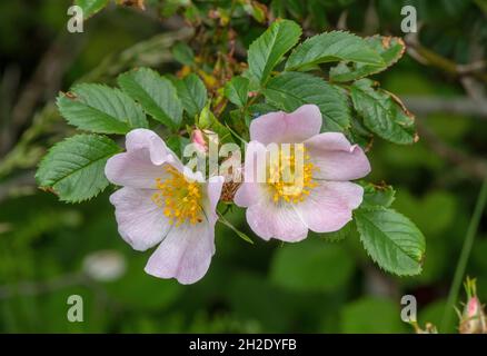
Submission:
[[[318,168],[310,162],[310,157],[302,145],[292,145],[287,151],[279,148],[279,155],[276,156],[279,158],[271,160],[267,175],[274,202],[304,201],[317,186],[312,180],[312,172]]]

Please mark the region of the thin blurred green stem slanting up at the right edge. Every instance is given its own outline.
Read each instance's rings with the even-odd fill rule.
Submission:
[[[441,329],[450,325],[451,316],[454,315],[454,307],[460,293],[461,280],[465,276],[465,269],[467,268],[468,257],[470,256],[471,247],[474,245],[475,235],[477,235],[478,225],[487,202],[487,179],[484,180],[480,192],[477,197],[474,215],[471,216],[470,224],[468,225],[467,235],[465,236],[464,246],[461,247],[460,257],[455,269],[454,281],[448,293],[448,300],[445,306],[445,310],[441,318]]]

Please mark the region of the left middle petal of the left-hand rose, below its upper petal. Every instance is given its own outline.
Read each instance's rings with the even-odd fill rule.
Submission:
[[[125,187],[110,196],[120,236],[133,249],[146,250],[160,243],[170,225],[152,200],[153,190]]]

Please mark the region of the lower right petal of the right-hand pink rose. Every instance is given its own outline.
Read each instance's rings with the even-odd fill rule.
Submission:
[[[362,195],[362,187],[350,181],[319,181],[297,209],[311,230],[337,231],[351,220],[351,211],[361,204]]]

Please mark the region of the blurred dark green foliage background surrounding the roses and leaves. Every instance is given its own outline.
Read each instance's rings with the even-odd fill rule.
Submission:
[[[217,225],[208,275],[181,286],[143,273],[150,251],[133,251],[119,237],[111,191],[64,205],[36,187],[46,149],[73,134],[56,110],[58,91],[79,81],[113,83],[138,66],[176,72],[171,48],[188,39],[181,14],[189,2],[146,1],[147,11],[110,6],[83,33],[66,30],[69,0],[0,2],[0,332],[413,333],[400,319],[405,294],[416,296],[421,325],[455,332],[456,316],[440,322],[487,179],[485,0],[260,1],[308,33],[339,28],[360,36],[405,37],[400,9],[416,7],[418,32],[405,37],[407,53],[374,79],[416,115],[420,140],[399,147],[377,139],[369,180],[392,185],[394,207],[425,234],[420,276],[381,271],[354,231],[339,243],[311,234],[297,245],[250,245]],[[192,2],[211,11],[230,1]],[[242,48],[266,29],[250,16],[235,26]],[[230,219],[251,236],[241,210]],[[485,214],[467,274],[487,300]],[[67,319],[70,295],[83,298],[83,323]]]

